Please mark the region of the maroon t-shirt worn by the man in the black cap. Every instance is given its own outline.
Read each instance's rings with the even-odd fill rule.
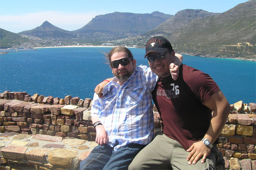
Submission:
[[[180,65],[178,79],[161,78],[153,94],[163,120],[163,133],[179,142],[185,150],[207,132],[212,111],[203,103],[218,91],[208,75],[187,65]]]

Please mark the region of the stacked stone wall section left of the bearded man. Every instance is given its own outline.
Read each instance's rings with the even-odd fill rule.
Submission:
[[[0,99],[0,131],[94,140],[90,102],[89,98],[5,91]]]

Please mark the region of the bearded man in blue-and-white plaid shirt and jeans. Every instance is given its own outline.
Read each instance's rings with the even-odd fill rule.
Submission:
[[[91,116],[99,145],[80,162],[80,170],[128,169],[154,136],[151,92],[157,76],[146,66],[136,67],[128,48],[112,48],[106,57],[115,77],[104,86],[102,98],[93,96]]]

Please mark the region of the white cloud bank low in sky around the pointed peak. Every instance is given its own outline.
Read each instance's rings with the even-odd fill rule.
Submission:
[[[59,11],[36,12],[22,15],[2,15],[0,16],[0,28],[14,33],[31,30],[41,26],[44,21],[48,21],[54,26],[64,30],[73,31],[85,26],[96,12],[91,13],[64,13]]]

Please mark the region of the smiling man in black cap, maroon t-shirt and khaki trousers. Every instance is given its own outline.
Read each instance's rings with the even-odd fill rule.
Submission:
[[[230,112],[227,99],[208,74],[187,65],[181,64],[177,80],[172,79],[169,65],[175,51],[166,38],[152,37],[145,50],[151,70],[160,77],[152,95],[163,133],[137,154],[129,169],[215,169],[219,153],[214,142]]]

